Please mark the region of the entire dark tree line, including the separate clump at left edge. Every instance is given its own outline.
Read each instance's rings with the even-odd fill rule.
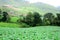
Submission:
[[[2,12],[0,10],[0,22],[10,22],[10,16],[7,12]],[[18,23],[25,23],[29,26],[60,26],[60,13],[46,13],[44,16],[40,15],[38,12],[28,12],[26,16],[17,20]]]

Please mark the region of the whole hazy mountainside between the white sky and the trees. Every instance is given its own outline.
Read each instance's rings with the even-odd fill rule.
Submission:
[[[8,12],[13,11],[13,14],[18,15],[26,14],[29,11],[37,11],[42,15],[47,12],[51,12],[53,14],[60,13],[58,8],[41,2],[29,3],[25,0],[0,0],[0,6],[1,5],[3,6],[2,9],[7,10]]]

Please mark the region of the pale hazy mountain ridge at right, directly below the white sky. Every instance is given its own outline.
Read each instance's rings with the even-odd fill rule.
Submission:
[[[52,13],[57,13],[59,12],[59,10],[54,7],[54,6],[51,6],[49,4],[45,4],[45,3],[41,3],[41,2],[37,2],[37,3],[32,3],[31,6],[34,6],[40,10],[42,10],[43,12],[52,12]]]

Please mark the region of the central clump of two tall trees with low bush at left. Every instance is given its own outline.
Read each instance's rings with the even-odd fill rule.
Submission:
[[[23,19],[19,19],[20,22],[26,23],[29,26],[42,25],[41,15],[38,12],[29,12]]]

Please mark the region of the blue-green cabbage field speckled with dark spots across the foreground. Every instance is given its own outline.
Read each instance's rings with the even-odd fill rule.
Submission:
[[[60,40],[60,27],[0,27],[0,40]]]

